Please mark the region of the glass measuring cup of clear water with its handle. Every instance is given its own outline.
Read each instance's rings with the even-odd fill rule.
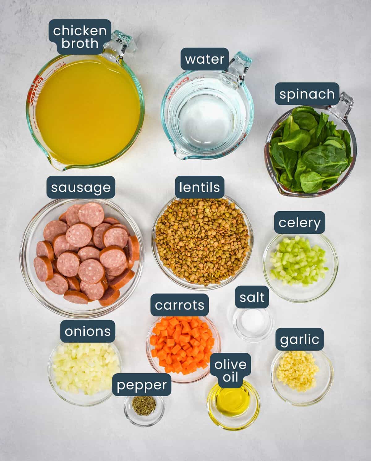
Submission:
[[[254,120],[250,64],[238,52],[226,71],[186,71],[170,83],[161,121],[178,159],[217,159],[242,144]]]

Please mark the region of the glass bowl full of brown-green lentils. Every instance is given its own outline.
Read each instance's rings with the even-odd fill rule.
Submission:
[[[251,223],[236,201],[221,199],[170,200],[152,230],[152,252],[168,278],[192,290],[224,286],[249,262]]]

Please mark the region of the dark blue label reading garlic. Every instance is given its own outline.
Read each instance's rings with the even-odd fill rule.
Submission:
[[[275,347],[278,350],[322,350],[322,328],[278,328]]]

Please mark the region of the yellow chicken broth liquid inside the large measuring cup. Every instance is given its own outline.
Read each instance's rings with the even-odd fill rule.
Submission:
[[[52,156],[65,165],[109,160],[134,136],[140,101],[132,77],[102,56],[55,71],[36,102],[36,122]]]

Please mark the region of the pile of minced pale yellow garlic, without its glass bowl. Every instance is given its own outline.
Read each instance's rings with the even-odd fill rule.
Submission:
[[[275,373],[278,381],[287,384],[291,389],[305,392],[316,386],[314,375],[319,371],[311,353],[304,350],[286,352]]]

